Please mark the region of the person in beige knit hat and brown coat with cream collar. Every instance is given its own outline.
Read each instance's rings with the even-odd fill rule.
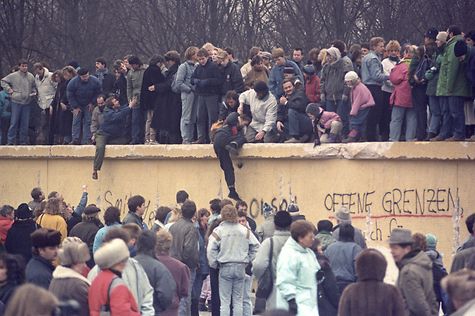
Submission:
[[[53,271],[49,290],[60,301],[75,300],[79,303],[79,315],[89,315],[88,291],[91,283],[82,273],[89,260],[89,248],[77,237],[63,240],[58,251],[61,265]]]

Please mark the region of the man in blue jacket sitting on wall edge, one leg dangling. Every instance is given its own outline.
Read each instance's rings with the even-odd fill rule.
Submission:
[[[94,170],[92,178],[98,179],[97,171],[101,170],[106,144],[126,144],[124,133],[127,115],[137,105],[137,98],[133,98],[129,105],[121,106],[117,95],[106,100],[104,109],[104,122],[96,133],[96,154],[94,156]]]

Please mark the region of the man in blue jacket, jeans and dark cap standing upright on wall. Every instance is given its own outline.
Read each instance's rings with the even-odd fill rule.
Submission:
[[[89,75],[89,70],[81,68],[78,75],[68,83],[66,95],[73,109],[72,143],[74,145],[91,143],[91,117],[94,103],[102,88],[99,79]],[[81,135],[82,142],[79,137]]]

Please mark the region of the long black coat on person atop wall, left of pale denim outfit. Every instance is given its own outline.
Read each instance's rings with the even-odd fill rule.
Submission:
[[[157,131],[167,131],[173,135],[181,135],[181,94],[173,92],[172,83],[176,77],[178,64],[171,66],[165,81],[155,85],[158,91],[158,99],[153,112],[152,127]]]

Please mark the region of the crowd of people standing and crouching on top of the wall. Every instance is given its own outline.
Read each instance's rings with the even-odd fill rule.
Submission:
[[[211,43],[148,65],[97,58],[95,71],[37,62],[32,74],[21,60],[1,80],[1,143],[204,144],[231,112],[253,143],[475,140],[474,40],[450,26],[420,46],[335,40],[308,58],[252,47],[244,64]]]

